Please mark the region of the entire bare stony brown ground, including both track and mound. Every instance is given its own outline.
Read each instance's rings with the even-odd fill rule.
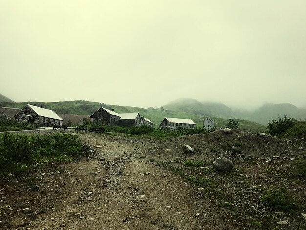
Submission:
[[[169,141],[78,135],[96,152],[1,178],[0,229],[306,229],[306,180],[293,175],[305,150],[294,143],[222,131]],[[194,154],[183,152],[186,144]],[[233,161],[233,170],[209,171],[221,155]],[[184,166],[185,160],[206,161],[207,168]],[[190,176],[210,183],[199,186]],[[33,191],[34,185],[39,189]],[[271,185],[292,194],[298,209],[285,212],[262,203]]]

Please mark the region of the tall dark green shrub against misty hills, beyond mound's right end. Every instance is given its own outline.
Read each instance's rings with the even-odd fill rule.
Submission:
[[[298,121],[294,118],[288,118],[287,115],[278,120],[272,120],[268,123],[268,133],[272,135],[282,135],[286,130],[296,125]]]

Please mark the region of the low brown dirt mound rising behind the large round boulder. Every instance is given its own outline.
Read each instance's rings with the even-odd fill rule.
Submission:
[[[194,154],[185,154],[184,145],[190,145]],[[152,152],[152,157],[174,161],[177,158],[201,158],[213,161],[219,156],[239,159],[268,159],[273,156],[289,158],[300,151],[291,142],[270,135],[248,134],[234,131],[232,134],[217,130],[208,134],[186,135],[169,140]]]

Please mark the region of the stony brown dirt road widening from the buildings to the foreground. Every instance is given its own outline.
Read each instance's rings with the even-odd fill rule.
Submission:
[[[80,138],[96,153],[4,184],[3,202],[10,201],[6,205],[12,209],[4,211],[6,216],[2,212],[4,229],[201,229],[189,185],[140,158],[156,141],[98,134]],[[31,209],[27,215],[25,208]]]

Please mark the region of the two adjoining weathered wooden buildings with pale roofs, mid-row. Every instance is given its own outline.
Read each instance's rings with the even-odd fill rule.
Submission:
[[[118,114],[113,109],[109,110],[101,107],[90,118],[92,118],[93,122],[102,125],[141,126],[140,114],[138,112]]]

